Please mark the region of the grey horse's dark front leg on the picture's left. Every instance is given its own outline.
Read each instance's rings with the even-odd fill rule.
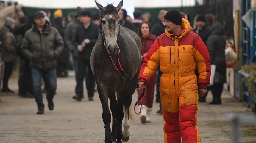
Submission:
[[[102,104],[102,119],[104,122],[104,128],[105,128],[105,143],[112,143],[111,140],[111,128],[110,128],[110,122],[111,122],[111,113],[108,108],[108,99],[107,99],[107,93],[108,88],[98,86],[98,93],[99,93],[99,99]]]

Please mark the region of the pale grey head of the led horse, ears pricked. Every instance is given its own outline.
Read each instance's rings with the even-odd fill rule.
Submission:
[[[96,5],[101,12],[99,28],[105,48],[108,53],[115,54],[118,51],[118,38],[121,28],[118,12],[123,6],[123,1],[120,1],[117,7],[114,7],[113,4],[103,7],[97,2]]]

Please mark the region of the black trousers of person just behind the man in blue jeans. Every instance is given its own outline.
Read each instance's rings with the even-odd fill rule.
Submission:
[[[29,60],[21,59],[19,66],[19,94],[26,94],[26,92],[33,94],[33,84],[32,84],[32,75],[31,69],[29,68]]]

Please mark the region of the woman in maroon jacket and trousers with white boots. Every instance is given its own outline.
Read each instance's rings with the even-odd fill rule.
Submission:
[[[138,35],[141,38],[141,64],[143,64],[144,57],[149,51],[150,47],[153,45],[156,40],[156,36],[150,33],[151,25],[147,21],[142,21],[139,26]],[[143,101],[138,102],[138,110],[141,108],[140,119],[141,123],[151,122],[149,116],[152,112],[153,107],[153,99],[154,99],[154,87],[157,80],[157,73],[150,78],[149,83],[145,86],[145,93],[143,97]],[[138,90],[138,98],[141,96],[142,91]],[[141,107],[142,106],[142,107]]]

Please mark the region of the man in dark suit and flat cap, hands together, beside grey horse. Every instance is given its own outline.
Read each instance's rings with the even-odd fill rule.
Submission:
[[[78,52],[78,76],[76,85],[76,95],[73,99],[81,101],[84,93],[83,82],[86,79],[86,89],[88,93],[89,101],[93,100],[95,80],[94,75],[90,66],[90,57],[93,47],[98,39],[98,25],[91,22],[91,12],[85,10],[81,14],[82,25],[77,27],[75,47],[77,47]],[[88,76],[85,77],[86,68],[88,70]]]

